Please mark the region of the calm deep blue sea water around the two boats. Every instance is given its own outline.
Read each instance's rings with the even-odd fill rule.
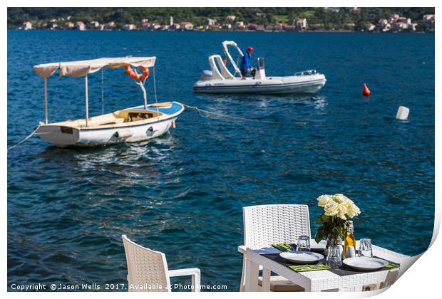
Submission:
[[[267,75],[314,68],[316,95],[197,95],[221,42],[253,46]],[[44,120],[38,63],[157,56],[158,100],[256,120],[203,118],[133,145],[63,150],[33,137],[8,154],[8,282],[125,283],[121,235],[163,251],[169,268],[238,290],[242,207],[308,204],[344,193],[361,208],[356,238],[426,250],[434,213],[434,35],[8,31],[8,145]],[[89,76],[101,114],[101,72]],[[141,105],[122,69],[103,73],[104,109]],[[371,89],[361,96],[362,84]],[[49,120],[84,117],[82,78],[48,80]],[[153,101],[153,80],[148,82]],[[395,119],[399,105],[408,121]],[[180,281],[180,280],[173,280]],[[184,282],[187,280],[183,280]]]

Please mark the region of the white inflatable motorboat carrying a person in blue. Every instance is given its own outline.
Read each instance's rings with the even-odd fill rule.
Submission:
[[[230,55],[228,46],[232,46],[238,52],[236,62]],[[200,80],[193,85],[195,93],[316,93],[327,82],[325,75],[317,73],[316,70],[304,70],[289,76],[267,77],[264,58],[258,58],[255,78],[241,80],[238,63],[244,54],[235,41],[223,41],[222,48],[226,56],[225,61],[220,55],[209,56],[210,70],[204,70]],[[227,68],[227,60],[233,67],[233,74]]]

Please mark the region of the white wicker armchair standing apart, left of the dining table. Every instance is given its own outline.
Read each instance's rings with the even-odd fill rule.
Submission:
[[[192,276],[192,292],[200,291],[200,269],[168,270],[165,254],[140,246],[125,235],[124,251],[128,263],[128,286],[133,292],[170,292],[170,277]]]

